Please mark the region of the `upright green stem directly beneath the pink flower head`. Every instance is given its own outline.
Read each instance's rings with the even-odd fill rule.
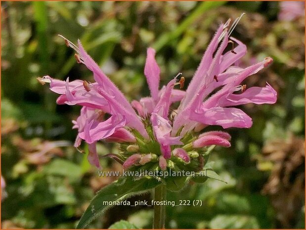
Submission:
[[[161,202],[159,205],[154,205],[154,221],[153,229],[165,229],[166,205],[162,205],[166,200],[167,189],[166,185],[162,184],[154,189],[154,201]]]

